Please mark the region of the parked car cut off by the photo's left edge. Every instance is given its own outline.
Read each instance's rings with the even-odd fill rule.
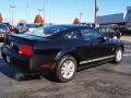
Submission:
[[[10,33],[9,27],[5,24],[0,23],[0,41],[3,41],[4,36],[9,33]]]

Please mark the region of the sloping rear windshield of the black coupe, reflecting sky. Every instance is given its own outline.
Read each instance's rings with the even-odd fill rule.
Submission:
[[[60,27],[60,26],[46,26],[46,27],[40,27],[36,30],[33,30],[28,33],[28,35],[34,35],[34,36],[39,36],[39,37],[48,37],[51,36],[60,30],[66,29],[66,27]]]

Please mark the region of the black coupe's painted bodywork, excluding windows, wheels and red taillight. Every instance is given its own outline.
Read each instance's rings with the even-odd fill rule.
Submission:
[[[68,33],[68,30],[88,28],[85,26],[71,26],[70,28],[56,33],[50,37],[37,37],[27,34],[9,35],[1,51],[3,60],[7,62],[7,56],[11,59],[11,65],[14,65],[22,72],[40,72],[50,71],[57,65],[57,61],[64,54],[71,54],[80,63],[96,58],[115,54],[118,47],[123,48],[120,40],[104,39],[103,37],[88,41],[83,39],[61,39],[60,35]],[[10,48],[10,42],[14,46]],[[20,44],[27,44],[33,46],[33,56],[25,57],[17,52]],[[49,64],[49,69],[41,69],[39,65]]]

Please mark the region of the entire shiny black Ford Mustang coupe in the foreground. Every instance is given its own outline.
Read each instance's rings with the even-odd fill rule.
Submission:
[[[119,63],[123,44],[90,27],[52,25],[7,36],[1,52],[3,60],[23,74],[51,71],[58,82],[69,82],[81,64]]]

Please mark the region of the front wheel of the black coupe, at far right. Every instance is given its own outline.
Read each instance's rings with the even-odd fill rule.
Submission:
[[[115,58],[114,58],[114,62],[115,63],[120,63],[121,62],[121,60],[122,60],[122,52],[123,52],[122,48],[119,47],[119,48],[116,49]]]

